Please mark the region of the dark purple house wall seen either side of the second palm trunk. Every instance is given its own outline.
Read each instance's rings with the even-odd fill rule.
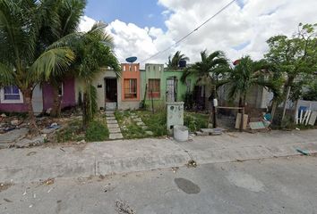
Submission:
[[[53,87],[45,83],[43,88],[43,109],[47,110],[53,106]],[[64,95],[62,99],[62,108],[76,105],[75,99],[75,80],[67,78],[64,80]]]

